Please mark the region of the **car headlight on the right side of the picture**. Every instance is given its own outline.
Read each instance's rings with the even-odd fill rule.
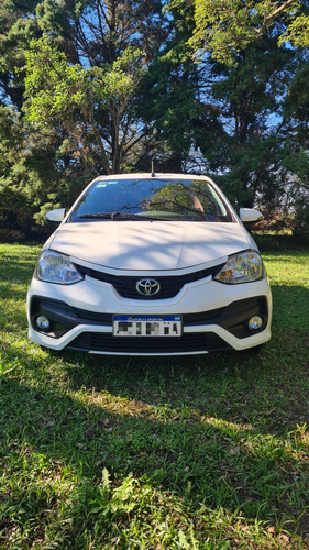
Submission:
[[[242,252],[230,256],[214,279],[227,285],[251,283],[265,276],[261,256],[253,251]]]

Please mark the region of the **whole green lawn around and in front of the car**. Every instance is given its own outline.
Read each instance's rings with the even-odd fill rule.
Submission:
[[[0,245],[0,548],[309,544],[309,253],[264,252],[258,354],[109,358],[27,341],[36,245]]]

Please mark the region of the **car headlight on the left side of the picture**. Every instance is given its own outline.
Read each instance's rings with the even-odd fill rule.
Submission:
[[[40,280],[58,285],[73,285],[84,278],[67,256],[48,251],[42,252],[34,276]]]

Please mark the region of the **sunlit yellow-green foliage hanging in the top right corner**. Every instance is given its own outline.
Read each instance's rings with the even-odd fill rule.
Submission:
[[[183,7],[173,0],[170,7]],[[269,30],[280,26],[278,44],[290,42],[308,46],[309,16],[302,12],[301,0],[195,0],[195,31],[189,40],[198,55],[211,52],[221,63],[235,63],[235,55],[257,42]],[[286,30],[282,31],[285,24]]]

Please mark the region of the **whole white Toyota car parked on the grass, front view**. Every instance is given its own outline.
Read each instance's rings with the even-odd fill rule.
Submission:
[[[257,248],[205,176],[98,177],[45,243],[27,294],[29,336],[53,350],[186,355],[271,338]],[[242,220],[242,221],[241,221]]]

